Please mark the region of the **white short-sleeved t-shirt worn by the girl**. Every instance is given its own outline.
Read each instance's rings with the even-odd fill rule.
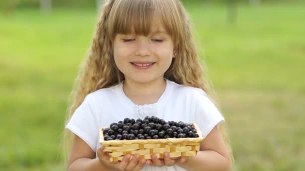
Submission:
[[[153,104],[134,104],[124,93],[122,83],[102,88],[88,94],[76,109],[66,128],[82,138],[96,151],[99,143],[99,128],[109,126],[125,117],[141,118],[157,116],[166,121],[195,122],[203,137],[224,117],[208,98],[206,93],[191,86],[166,80],[166,88],[159,100]],[[145,165],[142,170],[185,170],[178,165],[151,167]]]

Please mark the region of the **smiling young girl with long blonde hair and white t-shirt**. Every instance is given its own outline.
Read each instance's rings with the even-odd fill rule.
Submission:
[[[179,0],[105,0],[91,50],[80,71],[66,128],[73,132],[68,170],[230,170],[219,131],[224,118],[207,85]],[[124,117],[196,122],[203,132],[195,157],[151,160],[136,154],[110,162],[100,127]]]

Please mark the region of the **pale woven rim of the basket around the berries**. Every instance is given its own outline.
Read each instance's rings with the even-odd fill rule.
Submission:
[[[189,123],[190,124],[190,123]],[[183,142],[201,142],[204,137],[201,130],[196,123],[191,123],[194,125],[199,137],[187,137],[187,138],[163,138],[163,139],[132,139],[132,140],[104,140],[103,130],[109,126],[104,126],[99,129],[99,142],[103,146],[109,145],[130,145],[130,144],[145,144],[145,143],[183,143]]]

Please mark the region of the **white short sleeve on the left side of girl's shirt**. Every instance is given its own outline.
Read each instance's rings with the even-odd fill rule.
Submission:
[[[82,138],[95,152],[99,129],[98,115],[94,109],[90,94],[75,110],[66,128]]]

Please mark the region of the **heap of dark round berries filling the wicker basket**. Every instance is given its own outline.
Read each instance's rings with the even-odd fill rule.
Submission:
[[[168,121],[155,116],[142,119],[124,118],[105,128],[104,140],[161,139],[199,137],[193,124]]]

